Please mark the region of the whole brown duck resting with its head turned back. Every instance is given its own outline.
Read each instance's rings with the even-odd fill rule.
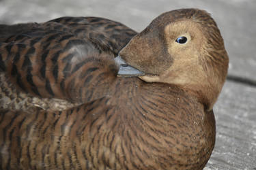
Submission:
[[[212,16],[172,10],[141,33],[105,20],[118,27],[116,38],[104,24],[95,38],[87,29],[77,35],[80,22],[93,23],[68,20],[1,35],[4,83],[10,94],[31,97],[23,106],[1,104],[1,168],[203,169],[229,63]]]

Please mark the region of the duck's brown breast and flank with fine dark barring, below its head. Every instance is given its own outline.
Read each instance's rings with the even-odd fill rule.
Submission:
[[[215,142],[212,112],[175,86],[137,78],[112,83],[106,97],[61,112],[1,111],[2,168],[205,166]]]

